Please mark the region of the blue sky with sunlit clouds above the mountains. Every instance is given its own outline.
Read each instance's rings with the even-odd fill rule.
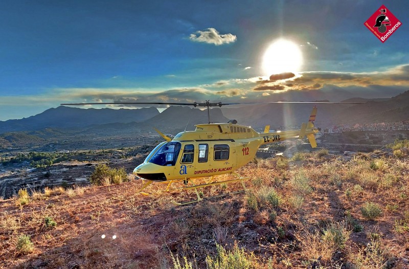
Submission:
[[[382,4],[401,22],[384,43],[364,25]],[[0,120],[69,102],[396,96],[409,89],[407,18],[405,0],[6,0]]]

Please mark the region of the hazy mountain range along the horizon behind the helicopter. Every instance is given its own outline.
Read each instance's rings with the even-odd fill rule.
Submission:
[[[316,104],[317,126],[336,124],[398,122],[409,120],[409,91],[386,99],[353,98],[343,102],[361,105]],[[306,122],[313,104],[252,104],[211,109],[213,122],[235,119],[239,124],[271,128],[299,126]],[[139,109],[75,108],[59,106],[20,120],[0,121],[0,134],[14,131],[39,131],[46,128],[109,135],[160,128],[167,132],[193,130],[194,124],[207,123],[207,111],[187,106],[170,106],[162,113],[155,107]],[[58,130],[56,132],[58,132]]]

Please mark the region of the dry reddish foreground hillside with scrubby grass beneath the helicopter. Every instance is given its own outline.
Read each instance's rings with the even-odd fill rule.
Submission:
[[[238,172],[251,177],[245,194],[183,207],[170,202],[193,191],[163,192],[165,185],[153,184],[143,196],[135,194],[139,181],[37,193],[23,206],[21,199],[0,201],[0,266],[409,267],[407,156],[319,151],[258,159]]]

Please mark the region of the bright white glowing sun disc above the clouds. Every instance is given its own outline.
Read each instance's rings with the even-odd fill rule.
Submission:
[[[303,56],[296,43],[279,39],[272,43],[263,56],[263,73],[270,76],[284,72],[299,72]]]

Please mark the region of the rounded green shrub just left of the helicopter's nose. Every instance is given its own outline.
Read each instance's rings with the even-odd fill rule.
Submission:
[[[107,165],[98,165],[92,175],[89,177],[89,182],[93,185],[109,185],[120,184],[128,181],[128,175],[124,168],[109,168]]]

